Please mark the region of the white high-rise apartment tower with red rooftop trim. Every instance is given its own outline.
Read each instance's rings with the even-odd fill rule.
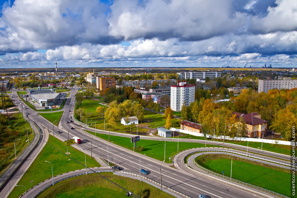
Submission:
[[[179,82],[171,86],[170,107],[174,111],[181,111],[182,106],[189,106],[195,100],[195,85]]]

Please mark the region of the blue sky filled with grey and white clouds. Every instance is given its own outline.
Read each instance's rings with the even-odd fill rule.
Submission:
[[[294,0],[0,0],[0,68],[297,67]]]

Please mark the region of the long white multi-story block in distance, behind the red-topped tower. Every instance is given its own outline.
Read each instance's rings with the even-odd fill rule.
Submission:
[[[179,72],[179,79],[205,79],[209,77],[210,79],[221,77],[221,72],[217,71],[201,71],[201,72]]]

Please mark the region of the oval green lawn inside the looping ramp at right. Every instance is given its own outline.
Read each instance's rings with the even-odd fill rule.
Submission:
[[[231,155],[206,154],[195,158],[196,163],[230,177]],[[232,178],[290,196],[290,170],[232,156]]]

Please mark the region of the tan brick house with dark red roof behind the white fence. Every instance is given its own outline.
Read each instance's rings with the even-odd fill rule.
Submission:
[[[240,114],[236,113],[236,118],[239,120],[243,118],[245,122],[245,136],[249,138],[261,138],[266,134],[268,121],[261,119],[258,113]]]

